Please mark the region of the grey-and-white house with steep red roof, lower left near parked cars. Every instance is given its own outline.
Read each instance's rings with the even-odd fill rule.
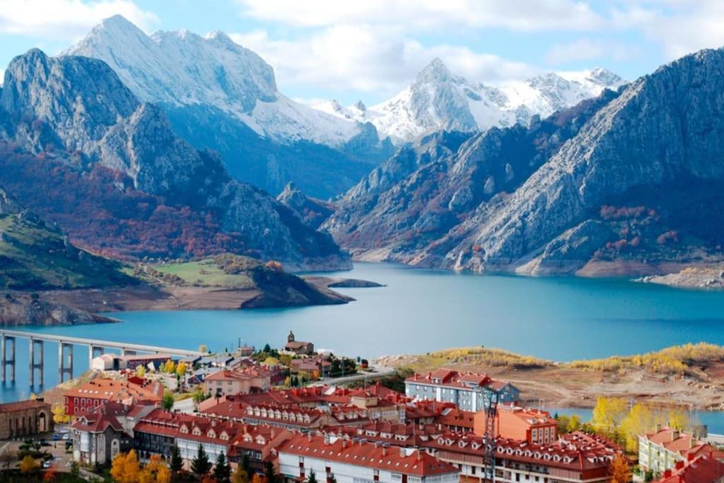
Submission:
[[[151,403],[128,406],[114,401],[88,408],[72,423],[73,459],[104,465],[132,449],[136,422],[153,408]]]

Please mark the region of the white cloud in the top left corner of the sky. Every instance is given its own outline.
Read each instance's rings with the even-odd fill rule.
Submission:
[[[144,30],[158,20],[130,0],[0,0],[0,32],[74,40],[114,14]]]

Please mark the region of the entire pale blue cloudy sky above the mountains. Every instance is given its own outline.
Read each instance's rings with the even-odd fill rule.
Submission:
[[[294,98],[369,104],[435,56],[484,83],[606,67],[628,79],[724,46],[720,0],[0,0],[0,70],[122,14],[147,33],[224,30]]]

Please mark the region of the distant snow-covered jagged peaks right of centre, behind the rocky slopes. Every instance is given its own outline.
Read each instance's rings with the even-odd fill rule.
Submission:
[[[594,69],[550,72],[492,87],[454,75],[436,58],[389,101],[369,109],[361,101],[350,107],[337,101],[317,107],[342,119],[371,122],[400,143],[437,130],[480,132],[515,123],[528,125],[536,114],[549,116],[621,84],[623,80],[613,72]]]

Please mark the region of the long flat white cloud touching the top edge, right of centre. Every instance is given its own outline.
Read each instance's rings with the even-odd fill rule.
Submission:
[[[578,0],[236,0],[245,16],[303,27],[350,23],[409,29],[500,27],[510,30],[589,30],[602,22]]]

